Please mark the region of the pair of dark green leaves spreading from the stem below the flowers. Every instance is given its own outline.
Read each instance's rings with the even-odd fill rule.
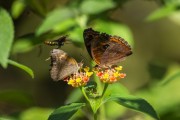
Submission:
[[[115,88],[115,87],[114,87]],[[119,88],[119,90],[123,90],[124,88]],[[121,95],[121,94],[114,94],[114,92],[107,92],[104,96],[99,96],[99,97],[94,97],[90,98],[87,97],[84,88],[81,88],[82,92],[86,96],[87,101],[89,101],[89,104],[92,108],[92,111],[94,113],[94,119],[97,119],[97,111],[100,108],[100,106],[103,106],[106,102],[116,102],[124,107],[140,111],[142,113],[148,114],[154,119],[159,119],[156,111],[153,109],[153,107],[144,99],[138,98],[132,95]],[[106,88],[104,89],[106,90]],[[56,109],[50,116],[48,120],[58,120],[58,119],[63,119],[63,120],[68,120],[71,118],[75,112],[79,109],[81,109],[82,106],[87,106],[85,103],[72,103],[70,105],[65,105],[61,106],[60,108]],[[98,119],[103,119],[99,118]]]

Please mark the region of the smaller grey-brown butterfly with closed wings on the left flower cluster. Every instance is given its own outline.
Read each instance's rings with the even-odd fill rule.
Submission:
[[[67,78],[71,74],[77,73],[82,64],[69,57],[66,52],[60,49],[53,49],[51,55],[51,78],[59,81]]]

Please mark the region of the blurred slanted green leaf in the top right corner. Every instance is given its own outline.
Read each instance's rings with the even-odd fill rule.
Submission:
[[[159,20],[161,18],[169,16],[171,13],[173,13],[175,11],[175,9],[176,9],[175,4],[169,4],[167,6],[163,6],[159,9],[155,10],[154,12],[152,12],[150,15],[148,15],[147,18],[145,19],[145,21],[152,22],[155,20]]]

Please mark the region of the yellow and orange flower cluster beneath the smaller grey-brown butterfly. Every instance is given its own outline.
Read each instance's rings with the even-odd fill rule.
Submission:
[[[68,85],[71,85],[72,87],[85,86],[89,82],[89,78],[92,74],[93,72],[89,72],[89,67],[85,67],[65,81],[67,81]]]

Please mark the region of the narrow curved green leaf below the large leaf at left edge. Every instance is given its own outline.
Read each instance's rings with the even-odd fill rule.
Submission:
[[[15,61],[13,61],[13,60],[8,60],[8,63],[11,64],[11,65],[16,66],[16,67],[18,67],[18,68],[21,68],[22,70],[24,70],[25,72],[27,72],[32,78],[34,78],[34,73],[33,73],[33,71],[32,71],[29,67],[27,67],[27,66],[25,66],[25,65],[22,65],[22,64],[20,64],[20,63],[17,63],[17,62],[15,62]]]

